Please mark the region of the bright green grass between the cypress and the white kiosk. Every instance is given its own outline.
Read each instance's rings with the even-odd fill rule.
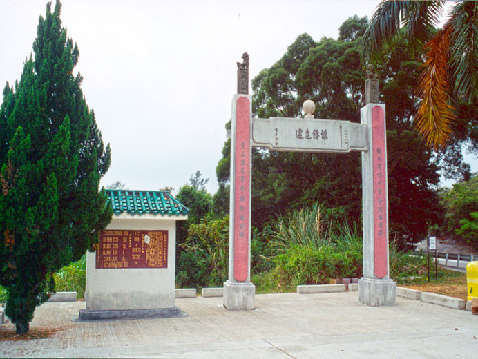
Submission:
[[[55,291],[75,291],[84,298],[86,287],[86,254],[80,260],[64,266],[53,275]]]

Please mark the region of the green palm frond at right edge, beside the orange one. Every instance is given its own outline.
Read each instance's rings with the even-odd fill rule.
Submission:
[[[450,40],[450,64],[455,95],[472,101],[478,93],[478,3],[461,1],[450,18],[454,32]]]

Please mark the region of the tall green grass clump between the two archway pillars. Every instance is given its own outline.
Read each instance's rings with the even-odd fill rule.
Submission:
[[[302,208],[278,219],[274,269],[278,285],[323,284],[362,274],[361,233],[338,217],[340,209]]]

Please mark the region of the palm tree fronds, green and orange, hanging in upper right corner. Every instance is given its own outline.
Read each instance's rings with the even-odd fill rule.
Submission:
[[[423,53],[417,86],[421,105],[416,126],[434,148],[445,146],[455,119],[455,101],[473,101],[478,93],[478,3],[456,1],[441,30],[436,30],[446,1],[382,1],[362,42],[363,61],[375,67],[400,36]]]

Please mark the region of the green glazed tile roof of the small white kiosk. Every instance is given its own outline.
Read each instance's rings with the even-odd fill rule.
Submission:
[[[106,196],[115,215],[187,215],[189,209],[170,193],[162,191],[129,191],[107,189]]]

